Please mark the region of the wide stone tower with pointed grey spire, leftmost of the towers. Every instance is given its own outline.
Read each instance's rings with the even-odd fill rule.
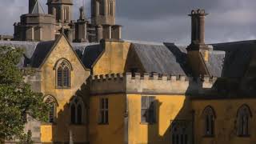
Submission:
[[[54,40],[54,16],[44,13],[39,0],[29,0],[29,5],[30,14],[22,14],[21,21],[14,23],[14,39],[21,41]]]

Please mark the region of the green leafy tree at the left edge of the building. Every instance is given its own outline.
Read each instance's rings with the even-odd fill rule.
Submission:
[[[26,115],[46,122],[50,110],[42,94],[34,93],[23,81],[33,69],[18,68],[22,54],[21,48],[0,46],[0,140],[21,137]]]

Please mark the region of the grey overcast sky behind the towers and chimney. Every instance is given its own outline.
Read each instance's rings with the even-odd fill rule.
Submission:
[[[40,0],[44,10],[46,0]],[[206,42],[230,42],[256,39],[255,0],[116,0],[117,24],[123,26],[122,38],[190,43],[192,9],[204,8]],[[74,0],[74,18],[82,0]],[[0,34],[13,34],[13,24],[28,11],[28,0],[1,0]],[[90,0],[86,0],[90,17]]]

